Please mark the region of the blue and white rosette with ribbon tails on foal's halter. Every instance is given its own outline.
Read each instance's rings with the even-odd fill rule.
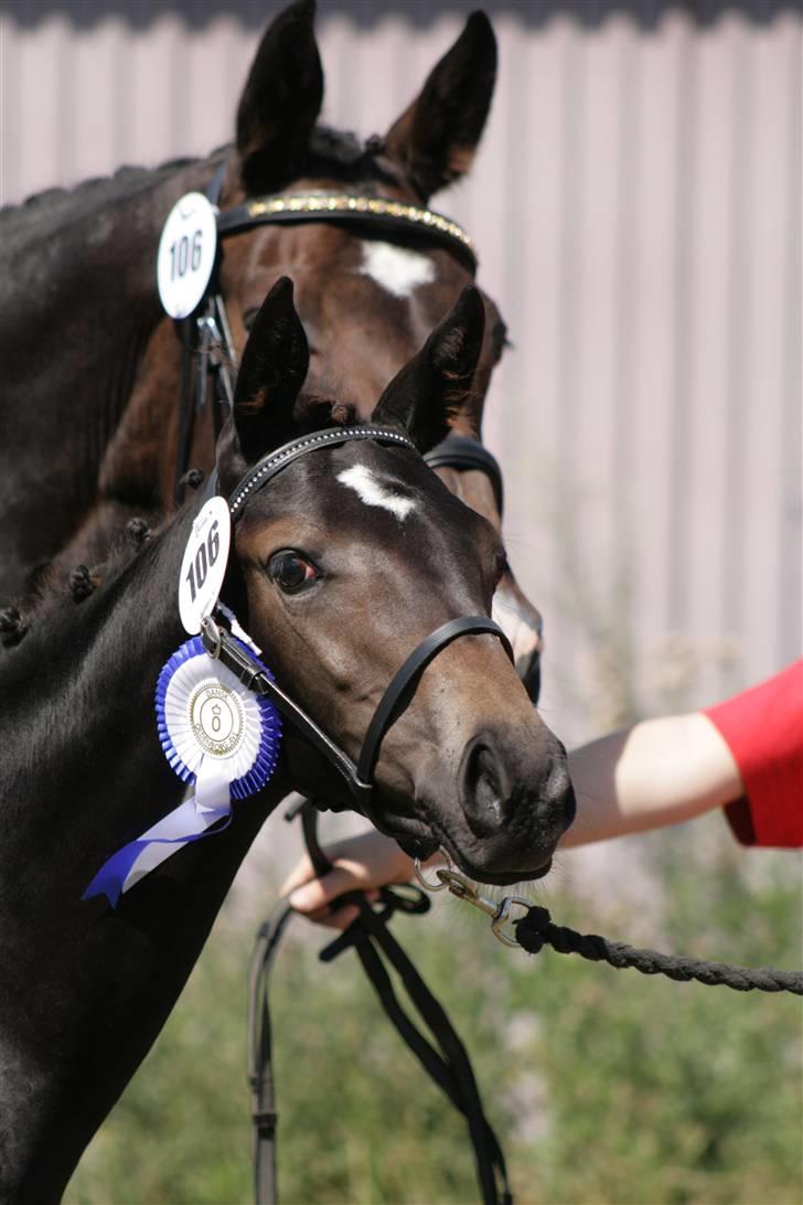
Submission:
[[[237,643],[272,680],[253,647]],[[124,892],[178,850],[226,828],[231,800],[255,794],[276,769],[279,712],[213,660],[200,636],[185,641],[163,666],[155,709],[165,757],[190,790],[178,807],[108,859],[83,899],[106,895],[116,906]]]

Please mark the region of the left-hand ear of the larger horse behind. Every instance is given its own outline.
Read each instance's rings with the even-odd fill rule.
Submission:
[[[247,193],[299,174],[324,98],[313,31],[315,0],[296,0],[265,30],[237,110],[240,175]]]

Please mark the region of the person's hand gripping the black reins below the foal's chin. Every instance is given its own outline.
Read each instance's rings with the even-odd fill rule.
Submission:
[[[305,854],[282,884],[281,894],[289,897],[296,912],[335,929],[348,928],[359,915],[354,904],[332,910],[332,901],[344,892],[364,892],[366,899],[376,900],[377,888],[406,883],[413,875],[412,858],[402,853],[392,837],[376,829],[326,846],[324,853],[332,863],[329,874],[317,878]]]

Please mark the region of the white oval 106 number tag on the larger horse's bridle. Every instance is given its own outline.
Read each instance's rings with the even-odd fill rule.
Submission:
[[[157,257],[159,296],[171,318],[185,318],[203,298],[217,245],[214,208],[202,193],[185,193],[170,211]]]

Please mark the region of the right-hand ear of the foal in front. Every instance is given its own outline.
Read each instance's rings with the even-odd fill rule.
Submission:
[[[421,351],[392,378],[371,422],[402,429],[420,452],[445,439],[450,419],[468,407],[484,329],[483,299],[468,284]]]

